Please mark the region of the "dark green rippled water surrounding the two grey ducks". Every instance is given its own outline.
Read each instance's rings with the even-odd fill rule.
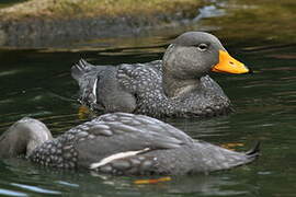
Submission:
[[[286,0],[274,5],[284,9],[292,2]],[[253,18],[253,22],[259,19],[251,15],[252,10],[246,9],[241,8],[241,12],[250,12],[247,15],[249,22],[249,18]],[[277,7],[274,9],[278,10]],[[166,121],[193,138],[239,151],[248,150],[260,140],[262,155],[258,161],[209,175],[172,176],[170,182],[137,185],[136,179],[146,177],[57,171],[21,159],[5,160],[0,161],[0,196],[295,196],[295,21],[292,24],[295,15],[282,20],[275,18],[281,23],[266,19],[262,25],[248,23],[248,20],[232,21],[231,26],[219,24],[220,20],[234,18],[234,14],[227,15],[228,12],[234,13],[219,4],[208,12],[216,14],[203,16],[194,25],[156,32],[146,37],[98,39],[66,48],[0,49],[0,132],[24,116],[43,120],[55,136],[83,123],[86,119],[79,116],[75,100],[78,86],[69,72],[71,65],[80,58],[100,65],[146,62],[161,58],[168,42],[181,32],[208,30],[254,73],[212,74],[232,101],[234,114],[205,120]],[[274,24],[273,27],[266,25],[269,22]],[[234,26],[238,32],[246,28],[244,34],[234,32]]]

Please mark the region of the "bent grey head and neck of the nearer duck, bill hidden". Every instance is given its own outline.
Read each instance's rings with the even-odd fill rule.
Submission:
[[[23,118],[0,136],[0,158],[29,157],[32,151],[53,139],[47,127],[32,118]]]

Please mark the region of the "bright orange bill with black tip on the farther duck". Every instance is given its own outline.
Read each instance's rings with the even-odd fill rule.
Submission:
[[[224,50],[219,50],[219,62],[212,68],[212,71],[237,74],[250,72],[250,70],[242,62],[236,60]]]

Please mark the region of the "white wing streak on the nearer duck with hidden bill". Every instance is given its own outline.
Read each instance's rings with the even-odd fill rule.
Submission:
[[[102,165],[105,165],[114,160],[118,160],[118,159],[123,159],[123,158],[128,158],[128,157],[133,157],[133,155],[136,155],[136,154],[139,154],[141,152],[146,152],[146,151],[149,151],[150,148],[145,148],[143,150],[138,150],[138,151],[127,151],[127,152],[118,152],[118,153],[115,153],[115,154],[112,154],[107,158],[104,158],[102,159],[100,162],[98,163],[92,163],[90,165],[90,169],[98,169]]]

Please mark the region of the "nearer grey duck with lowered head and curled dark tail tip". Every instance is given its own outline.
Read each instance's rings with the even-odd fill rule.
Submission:
[[[194,140],[158,119],[127,113],[105,114],[53,138],[47,127],[23,118],[0,137],[0,158],[25,154],[59,169],[111,174],[189,174],[226,170],[253,161],[247,153]]]

